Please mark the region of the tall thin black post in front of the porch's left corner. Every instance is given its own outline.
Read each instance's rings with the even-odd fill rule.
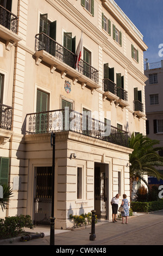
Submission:
[[[53,138],[53,140],[52,140]],[[53,166],[52,166],[52,213],[51,213],[51,233],[50,233],[50,245],[54,245],[54,181],[55,181],[55,133],[51,133],[51,147],[53,147]]]

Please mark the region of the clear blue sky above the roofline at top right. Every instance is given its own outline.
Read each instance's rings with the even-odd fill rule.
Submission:
[[[148,50],[144,52],[144,59],[148,58],[149,63],[162,60],[163,1],[115,0],[115,2],[143,35],[143,41],[148,46]]]

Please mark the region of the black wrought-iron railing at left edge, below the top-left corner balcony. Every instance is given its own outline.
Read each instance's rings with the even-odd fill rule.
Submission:
[[[0,128],[11,130],[12,107],[0,103]]]

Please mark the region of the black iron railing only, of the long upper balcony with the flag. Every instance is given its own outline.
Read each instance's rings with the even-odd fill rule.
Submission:
[[[45,33],[35,35],[35,51],[44,50],[64,62],[71,68],[76,69],[77,56],[69,51],[64,46],[60,45],[57,41],[50,38]],[[98,70],[91,65],[80,59],[77,69],[81,74],[89,77],[92,81],[98,83]]]

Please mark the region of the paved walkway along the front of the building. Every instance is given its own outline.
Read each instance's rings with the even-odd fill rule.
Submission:
[[[98,222],[95,226],[96,239],[90,241],[91,226],[86,228],[71,230],[55,230],[55,246],[97,246],[97,245],[108,245],[114,242],[118,237],[124,237],[124,235],[134,236],[139,230],[146,230],[147,228],[152,228],[153,226],[163,224],[163,210],[154,212],[152,214],[135,214],[129,217],[128,224],[122,224],[121,220],[112,223],[109,221]],[[26,229],[27,230],[27,229]],[[31,230],[30,230],[31,231]],[[0,245],[50,245],[50,228],[36,227],[34,232],[44,233],[45,237],[34,239],[30,241],[1,241]],[[151,237],[151,234],[146,232],[146,239]],[[163,235],[162,235],[163,236]],[[163,237],[161,238],[163,241]],[[163,245],[163,243],[162,243]]]

